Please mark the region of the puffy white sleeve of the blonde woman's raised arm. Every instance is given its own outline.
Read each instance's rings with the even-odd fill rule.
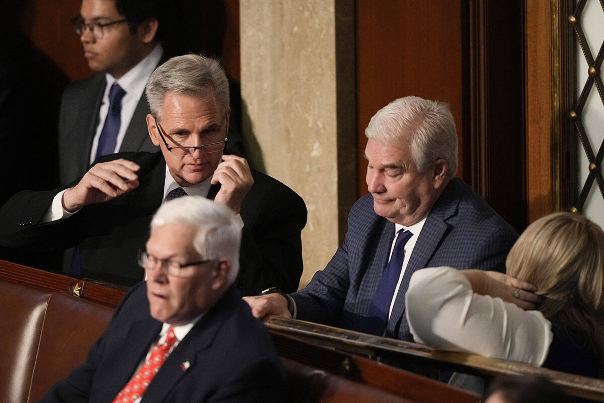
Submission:
[[[454,268],[414,272],[405,300],[414,340],[435,349],[541,366],[553,338],[541,312],[476,294]]]

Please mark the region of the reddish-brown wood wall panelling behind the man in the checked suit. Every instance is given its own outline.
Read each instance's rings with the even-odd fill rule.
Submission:
[[[522,2],[359,0],[358,189],[367,193],[365,127],[394,98],[448,102],[460,169],[516,230],[526,225]]]

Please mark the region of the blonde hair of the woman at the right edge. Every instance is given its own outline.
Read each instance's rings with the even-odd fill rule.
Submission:
[[[542,314],[585,336],[604,367],[604,232],[580,214],[542,217],[518,238],[507,274],[533,283]]]

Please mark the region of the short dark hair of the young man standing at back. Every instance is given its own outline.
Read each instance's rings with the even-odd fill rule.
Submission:
[[[135,33],[138,25],[149,18],[158,21],[156,41],[164,40],[165,33],[169,32],[167,23],[171,13],[168,0],[115,0],[115,9],[128,20],[131,33]]]

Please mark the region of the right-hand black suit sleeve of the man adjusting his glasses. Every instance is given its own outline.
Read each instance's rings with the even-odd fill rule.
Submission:
[[[284,292],[296,291],[303,269],[300,233],[306,225],[304,201],[280,183],[262,184],[246,198],[237,288],[242,295],[257,295],[273,286]]]

